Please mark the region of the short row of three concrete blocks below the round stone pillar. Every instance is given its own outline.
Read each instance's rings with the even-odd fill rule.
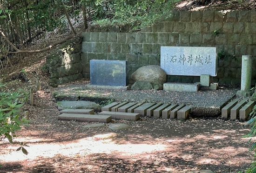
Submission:
[[[222,108],[222,119],[227,120],[246,120],[252,111],[255,101],[249,101],[249,98],[236,98]]]

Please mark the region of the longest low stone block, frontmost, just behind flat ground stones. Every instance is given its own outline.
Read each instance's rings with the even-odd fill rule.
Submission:
[[[58,117],[58,120],[77,120],[77,121],[101,122],[101,123],[108,123],[112,119],[110,115],[77,114],[77,113],[61,113],[57,117]]]

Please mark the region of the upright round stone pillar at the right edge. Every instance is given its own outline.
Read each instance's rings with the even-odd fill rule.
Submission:
[[[243,97],[249,97],[252,95],[251,89],[251,55],[242,56],[242,69],[241,69],[241,90],[237,91],[237,95]]]

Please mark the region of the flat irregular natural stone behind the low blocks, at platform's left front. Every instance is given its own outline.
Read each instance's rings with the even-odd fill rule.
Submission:
[[[59,110],[63,109],[94,109],[95,111],[101,111],[101,105],[93,101],[58,101],[56,103]]]

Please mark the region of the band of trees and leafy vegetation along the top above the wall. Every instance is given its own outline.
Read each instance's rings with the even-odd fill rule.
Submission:
[[[179,1],[0,0],[0,34],[4,38],[0,40],[4,45],[0,47],[0,59],[4,53],[24,50],[35,38],[48,31],[65,32],[68,27],[73,30],[72,24],[81,18],[80,14],[85,23],[84,30],[88,29],[88,23],[97,26],[128,25],[137,30],[152,25],[158,19],[168,18]]]

